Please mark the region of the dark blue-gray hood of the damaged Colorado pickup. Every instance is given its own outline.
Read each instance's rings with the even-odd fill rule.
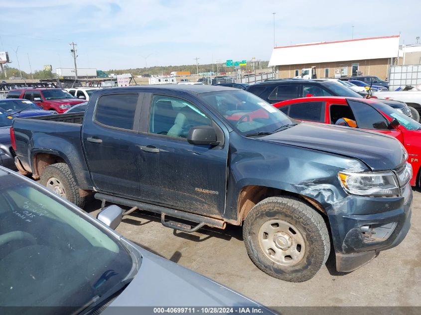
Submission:
[[[395,138],[350,127],[301,122],[260,139],[356,158],[373,171],[395,169],[405,161]]]

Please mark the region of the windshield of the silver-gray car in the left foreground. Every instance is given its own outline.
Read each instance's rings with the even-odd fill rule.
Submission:
[[[108,294],[132,266],[105,229],[40,188],[0,175],[2,306],[80,307]]]

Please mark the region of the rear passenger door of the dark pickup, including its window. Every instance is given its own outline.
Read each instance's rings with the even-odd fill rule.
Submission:
[[[100,192],[138,197],[138,131],[143,93],[102,94],[88,106],[82,142],[90,175]],[[88,118],[91,117],[91,118]]]

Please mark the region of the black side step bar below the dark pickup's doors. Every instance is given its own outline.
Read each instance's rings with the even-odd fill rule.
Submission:
[[[203,215],[200,215],[200,214],[194,214],[194,213],[190,213],[190,212],[165,208],[165,207],[161,207],[161,206],[155,206],[155,205],[146,204],[146,203],[143,203],[143,202],[140,202],[140,201],[110,196],[110,195],[106,195],[106,194],[102,194],[102,193],[96,193],[95,199],[102,200],[103,206],[104,206],[105,202],[108,201],[108,202],[113,203],[113,204],[119,204],[119,205],[134,207],[134,208],[136,207],[136,208],[139,208],[140,210],[146,210],[146,211],[151,211],[151,212],[155,212],[155,213],[160,213],[162,225],[164,225],[166,227],[174,228],[176,230],[180,230],[180,231],[183,231],[183,232],[187,232],[187,233],[197,231],[199,228],[203,227],[204,225],[217,227],[217,228],[221,228],[221,229],[224,229],[225,226],[226,226],[226,222],[222,219],[216,219],[216,218],[212,218],[212,217],[208,217],[208,216],[203,216]],[[102,206],[102,208],[104,208],[103,206]],[[125,213],[129,214],[130,212],[131,211],[129,210]],[[184,224],[184,223],[179,223],[179,222],[175,222],[175,221],[165,221],[165,215],[169,215],[169,216],[176,217],[176,218],[183,219],[183,220],[196,222],[197,225],[194,226],[194,227],[191,227],[190,225]]]

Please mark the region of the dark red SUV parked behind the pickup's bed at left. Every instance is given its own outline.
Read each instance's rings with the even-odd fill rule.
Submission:
[[[25,99],[45,110],[55,110],[63,113],[76,104],[86,102],[75,99],[69,92],[62,89],[21,89],[10,90],[7,99]]]

